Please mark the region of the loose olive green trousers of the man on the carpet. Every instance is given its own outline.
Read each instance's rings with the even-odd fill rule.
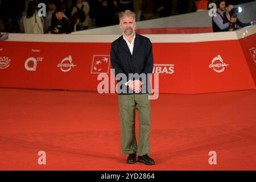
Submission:
[[[148,94],[118,95],[122,154],[150,155],[151,107]],[[135,137],[135,109],[139,115],[139,140]]]

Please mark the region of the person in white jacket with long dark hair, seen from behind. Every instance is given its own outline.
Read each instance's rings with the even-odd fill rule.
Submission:
[[[23,16],[23,28],[25,34],[43,34],[43,23],[38,13],[34,1],[28,3],[27,13]]]

